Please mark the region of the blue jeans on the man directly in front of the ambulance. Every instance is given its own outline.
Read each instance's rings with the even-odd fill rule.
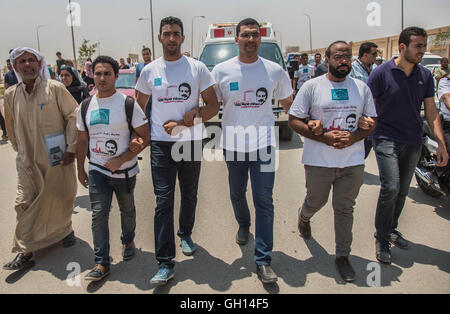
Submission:
[[[266,171],[267,169],[264,170],[262,166],[264,167],[264,165],[267,166],[275,162],[273,153],[270,146],[258,151],[257,155],[254,156],[255,158],[251,158],[252,153],[237,153],[224,150],[228,168],[230,198],[239,226],[250,226],[250,210],[245,195],[250,172],[253,205],[256,212],[254,256],[256,265],[270,265],[272,260],[270,253],[273,248],[274,207],[272,193],[275,170]],[[261,156],[262,154],[263,156]],[[233,158],[229,160],[229,157]]]

